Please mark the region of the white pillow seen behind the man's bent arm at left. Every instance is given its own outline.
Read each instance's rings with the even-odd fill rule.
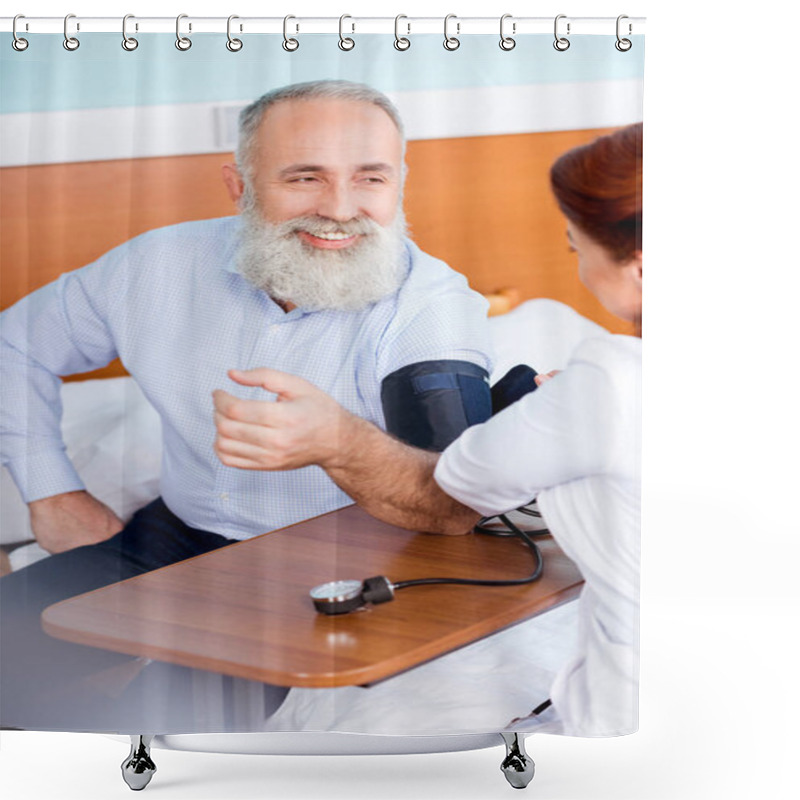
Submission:
[[[123,519],[158,496],[161,422],[132,378],[75,381],[61,388],[67,453],[86,488]],[[6,469],[0,475],[0,544],[30,541],[28,507]]]

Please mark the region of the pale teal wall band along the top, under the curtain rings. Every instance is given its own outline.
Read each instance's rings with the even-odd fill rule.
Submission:
[[[503,52],[498,36],[470,35],[448,52],[442,36],[412,36],[412,47],[398,52],[392,37],[367,34],[342,52],[338,37],[299,36],[300,49],[287,53],[276,34],[241,35],[238,53],[225,48],[222,34],[196,34],[192,47],[179,52],[173,34],[139,36],[126,52],[121,35],[87,33],[74,52],[62,47],[60,34],[28,36],[18,53],[11,35],[0,37],[0,113],[69,111],[85,108],[178,103],[247,101],[287,83],[342,78],[369,83],[385,92],[515,86],[533,83],[640,78],[644,36],[620,53],[614,36],[572,36],[559,53],[553,37],[517,37]]]

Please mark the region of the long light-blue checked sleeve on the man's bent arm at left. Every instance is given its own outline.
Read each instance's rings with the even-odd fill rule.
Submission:
[[[59,376],[116,356],[108,320],[119,261],[112,251],[0,315],[0,453],[25,502],[84,488],[61,434]]]

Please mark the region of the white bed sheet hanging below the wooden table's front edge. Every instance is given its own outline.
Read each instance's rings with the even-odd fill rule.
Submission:
[[[577,630],[572,601],[369,687],[294,688],[264,730],[408,736],[501,731],[549,697],[556,673],[575,651]]]

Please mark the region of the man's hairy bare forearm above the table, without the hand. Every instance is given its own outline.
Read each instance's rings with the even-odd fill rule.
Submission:
[[[374,517],[410,530],[460,534],[477,512],[443,492],[433,479],[438,453],[418,450],[366,420],[347,414],[346,442],[335,462],[323,465],[330,478]]]

